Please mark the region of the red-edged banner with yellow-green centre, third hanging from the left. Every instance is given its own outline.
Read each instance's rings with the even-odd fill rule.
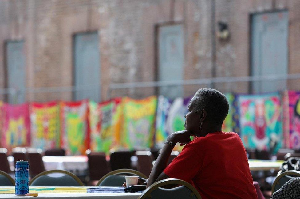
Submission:
[[[61,103],[61,146],[67,155],[89,148],[88,100]]]

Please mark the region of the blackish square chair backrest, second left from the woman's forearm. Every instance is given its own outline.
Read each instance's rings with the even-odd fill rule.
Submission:
[[[110,166],[111,171],[117,169],[130,169],[132,152],[130,151],[118,151],[110,154]]]

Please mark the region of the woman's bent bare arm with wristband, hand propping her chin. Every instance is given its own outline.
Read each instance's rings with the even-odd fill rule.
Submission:
[[[181,145],[188,144],[191,139],[191,132],[187,130],[183,131],[178,131],[175,133],[172,133],[169,135],[167,138],[167,141],[172,141],[173,143],[180,142]],[[170,144],[164,144],[164,147],[162,148],[159,156],[157,157],[155,164],[152,168],[152,171],[150,173],[148,182],[147,182],[147,187],[152,185],[154,182],[157,180],[162,180],[168,178],[168,175],[164,174],[163,171],[167,167],[167,163],[170,157],[170,154],[173,150],[174,146]],[[159,179],[158,179],[159,178]]]

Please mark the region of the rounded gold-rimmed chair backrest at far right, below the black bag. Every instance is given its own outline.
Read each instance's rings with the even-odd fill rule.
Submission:
[[[272,185],[272,194],[280,189],[286,182],[288,182],[290,179],[294,179],[300,177],[300,171],[296,170],[290,170],[290,171],[285,171],[282,172],[280,175],[278,175],[275,178],[275,181],[273,182]]]

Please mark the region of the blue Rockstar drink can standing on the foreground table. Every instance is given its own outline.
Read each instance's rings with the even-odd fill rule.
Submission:
[[[29,164],[28,161],[17,161],[15,166],[15,194],[25,195],[29,192]]]

